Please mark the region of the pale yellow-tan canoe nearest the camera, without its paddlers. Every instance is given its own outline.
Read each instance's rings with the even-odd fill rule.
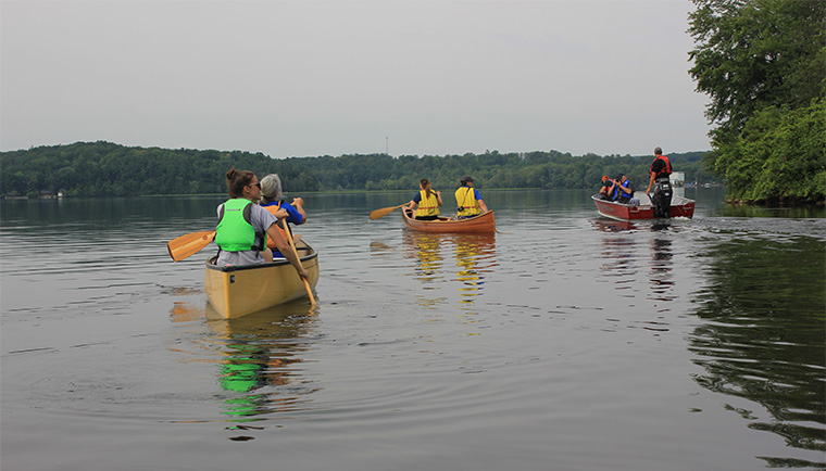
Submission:
[[[301,265],[310,272],[310,287],[318,282],[318,253],[296,240]],[[218,267],[206,262],[204,290],[210,304],[230,319],[306,296],[306,288],[289,262]]]

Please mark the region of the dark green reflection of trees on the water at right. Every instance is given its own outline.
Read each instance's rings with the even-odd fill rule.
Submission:
[[[783,436],[788,446],[826,451],[826,245],[815,238],[728,240],[711,246],[706,287],[689,336],[702,386],[754,403],[727,405],[748,427]],[[766,417],[766,412],[769,417]],[[760,457],[772,467],[825,467]]]

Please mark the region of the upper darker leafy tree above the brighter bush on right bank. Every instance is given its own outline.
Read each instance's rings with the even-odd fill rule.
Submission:
[[[739,132],[765,106],[808,106],[826,92],[826,2],[693,0],[689,71],[706,115]]]

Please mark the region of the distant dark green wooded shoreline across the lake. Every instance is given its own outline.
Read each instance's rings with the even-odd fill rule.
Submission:
[[[687,181],[712,181],[702,169],[703,152],[672,154],[675,170]],[[226,192],[230,168],[259,178],[278,174],[289,192],[415,190],[427,178],[434,188],[459,187],[471,175],[477,188],[599,189],[603,175],[624,173],[648,184],[651,156],[586,154],[558,151],[463,155],[354,154],[271,158],[241,151],[124,147],[76,142],[0,153],[0,194],[37,198],[216,194]]]

